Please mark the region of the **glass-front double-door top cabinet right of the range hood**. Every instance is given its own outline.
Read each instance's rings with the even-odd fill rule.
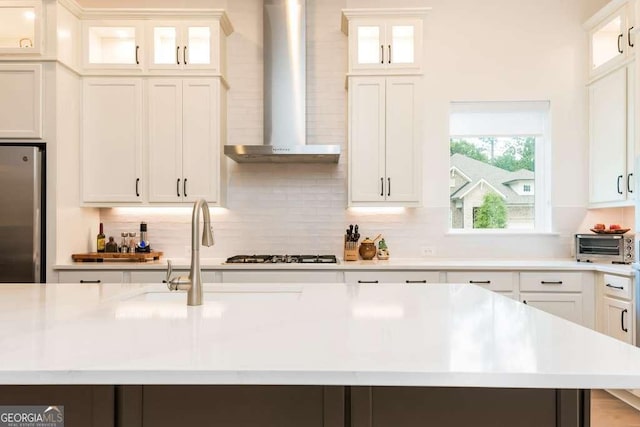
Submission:
[[[428,8],[345,9],[350,74],[422,72],[423,17]]]

